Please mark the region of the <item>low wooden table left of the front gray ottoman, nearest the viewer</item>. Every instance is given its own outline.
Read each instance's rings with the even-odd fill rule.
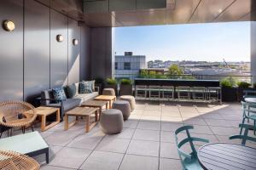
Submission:
[[[64,116],[64,129],[67,130],[70,127],[73,127],[73,125],[78,122],[79,116],[85,117],[85,132],[88,133],[92,127],[94,127],[98,121],[98,108],[92,108],[92,107],[76,107],[71,111],[67,111]],[[95,122],[90,123],[90,116],[92,114],[95,114]],[[76,119],[73,122],[68,122],[68,116],[76,116]]]

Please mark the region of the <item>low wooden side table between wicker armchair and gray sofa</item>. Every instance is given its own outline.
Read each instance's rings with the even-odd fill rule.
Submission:
[[[41,131],[44,132],[48,130],[50,127],[54,127],[56,124],[58,124],[61,121],[60,118],[60,109],[55,108],[55,107],[37,107],[34,109],[34,113],[37,114],[38,116],[41,116]],[[31,111],[26,111],[28,114],[33,114]],[[56,115],[56,121],[50,123],[49,125],[46,126],[46,117],[49,115]]]

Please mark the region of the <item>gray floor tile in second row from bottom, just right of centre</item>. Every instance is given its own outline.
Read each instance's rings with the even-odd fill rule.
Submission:
[[[159,156],[159,142],[145,140],[131,140],[127,154],[141,156]]]

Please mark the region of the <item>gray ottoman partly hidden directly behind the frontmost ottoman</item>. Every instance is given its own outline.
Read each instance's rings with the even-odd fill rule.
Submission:
[[[125,100],[114,101],[112,108],[122,111],[124,120],[127,120],[131,115],[131,107],[128,101],[125,101]]]

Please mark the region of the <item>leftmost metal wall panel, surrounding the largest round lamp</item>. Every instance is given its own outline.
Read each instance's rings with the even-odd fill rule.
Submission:
[[[0,1],[0,22],[12,20],[15,31],[0,27],[0,101],[23,98],[23,1]]]

